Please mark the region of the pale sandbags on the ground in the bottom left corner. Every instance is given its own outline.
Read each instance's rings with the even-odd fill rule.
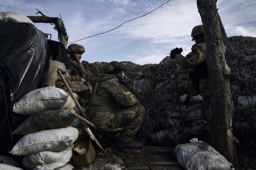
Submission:
[[[0,169],[22,170],[21,168],[19,168],[19,164],[12,158],[0,155],[0,161]]]

